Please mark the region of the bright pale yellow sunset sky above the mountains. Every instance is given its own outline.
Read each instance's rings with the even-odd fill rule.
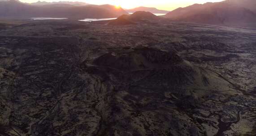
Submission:
[[[20,0],[26,3],[37,2],[38,0]],[[41,1],[60,1],[60,0],[41,0]],[[174,10],[179,7],[187,7],[191,4],[204,4],[206,2],[220,2],[223,0],[62,0],[62,1],[81,1],[89,4],[112,4],[121,6],[123,9],[132,9],[139,6],[155,7],[163,10]]]

